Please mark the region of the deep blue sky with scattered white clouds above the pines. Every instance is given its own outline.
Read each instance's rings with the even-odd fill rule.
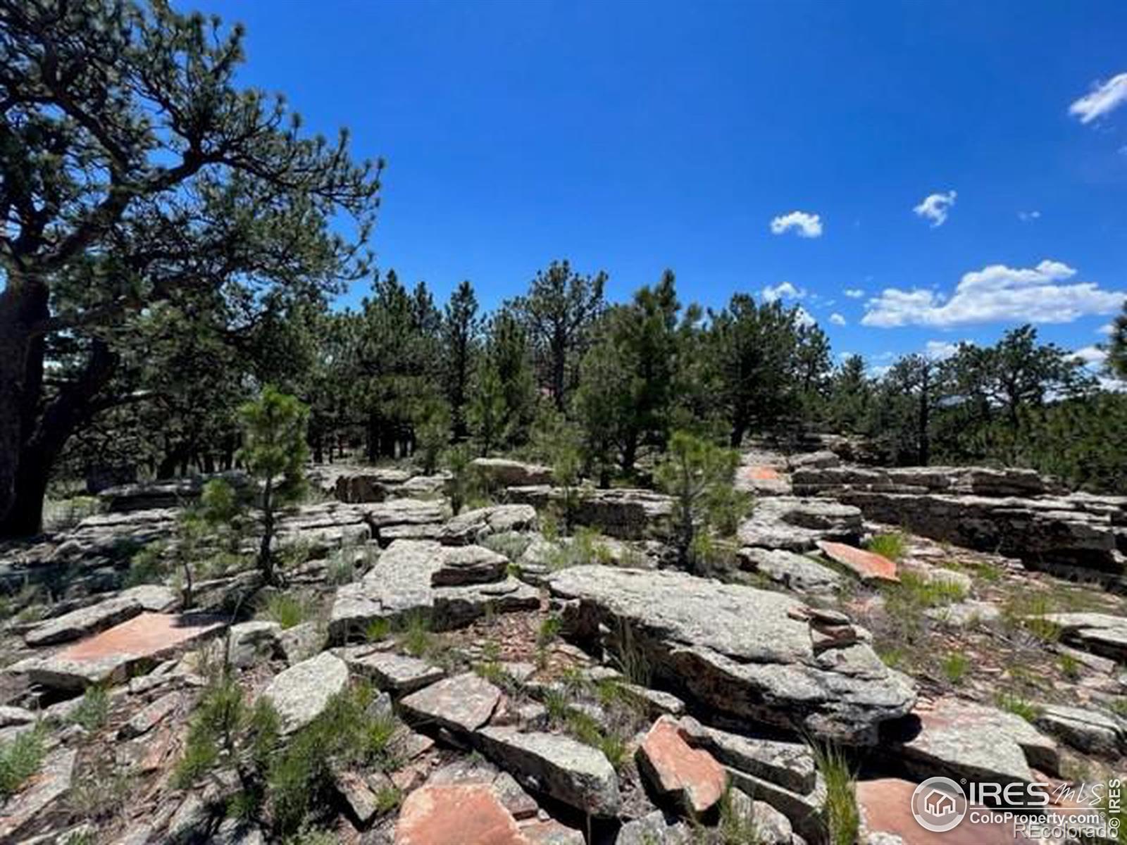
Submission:
[[[441,299],[672,267],[879,364],[1024,320],[1089,347],[1127,296],[1119,0],[201,8],[247,25],[245,82],[388,160],[379,265]]]

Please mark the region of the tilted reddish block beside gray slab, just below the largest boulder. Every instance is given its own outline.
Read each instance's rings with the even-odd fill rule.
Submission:
[[[668,715],[649,729],[638,748],[638,765],[659,793],[675,795],[695,815],[716,806],[728,785],[724,766],[708,751],[690,746]]]

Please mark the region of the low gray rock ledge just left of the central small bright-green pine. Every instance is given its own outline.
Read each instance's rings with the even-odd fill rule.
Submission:
[[[567,491],[544,484],[511,487],[509,501],[532,505],[538,510],[561,507]],[[597,528],[619,540],[666,539],[671,535],[673,498],[653,490],[615,488],[596,490],[583,488],[573,502],[573,519],[578,525]]]

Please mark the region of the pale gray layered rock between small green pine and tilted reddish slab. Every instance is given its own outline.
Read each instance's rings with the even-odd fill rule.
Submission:
[[[863,532],[861,512],[828,499],[774,496],[755,504],[739,526],[740,545],[810,551],[819,540],[857,544]]]

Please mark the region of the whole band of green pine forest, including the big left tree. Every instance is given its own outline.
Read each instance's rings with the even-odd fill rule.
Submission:
[[[614,303],[604,273],[556,261],[492,313],[469,282],[437,303],[367,252],[383,163],[238,86],[240,27],[6,3],[0,51],[0,536],[39,530],[52,480],[230,465],[236,409],[266,384],[309,406],[319,461],[566,450],[611,484],[675,430],[824,430],[890,464],[1127,488],[1127,398],[1031,327],[875,377],[799,309],[683,303],[672,272]],[[357,310],[331,308],[365,279]],[[1120,317],[1120,377],[1125,346]]]

